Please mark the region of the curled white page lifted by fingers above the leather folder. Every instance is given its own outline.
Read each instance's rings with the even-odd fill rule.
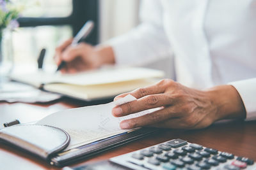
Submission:
[[[133,129],[120,129],[120,122],[125,119],[140,117],[150,111],[117,118],[112,115],[112,109],[120,104],[135,100],[135,97],[128,95],[108,104],[58,111],[39,120],[36,124],[51,125],[67,131],[71,138],[70,145],[66,148],[69,150],[116,134],[133,131]]]

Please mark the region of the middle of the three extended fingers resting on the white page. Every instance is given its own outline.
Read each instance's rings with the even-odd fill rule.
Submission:
[[[136,101],[122,104],[113,108],[112,113],[115,117],[123,117],[131,113],[137,113],[151,108],[172,105],[174,99],[168,94],[153,94],[141,97]]]

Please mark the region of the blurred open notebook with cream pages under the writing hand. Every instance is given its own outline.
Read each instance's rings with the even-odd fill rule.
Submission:
[[[49,92],[86,101],[104,99],[154,83],[163,71],[141,67],[111,67],[77,74],[15,73],[11,79]]]

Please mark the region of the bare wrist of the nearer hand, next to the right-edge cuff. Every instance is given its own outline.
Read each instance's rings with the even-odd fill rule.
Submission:
[[[217,108],[216,120],[246,117],[243,101],[237,90],[231,85],[220,85],[206,91],[212,104]]]

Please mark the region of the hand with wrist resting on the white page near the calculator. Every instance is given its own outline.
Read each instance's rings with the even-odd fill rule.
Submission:
[[[221,85],[208,90],[195,90],[172,80],[161,80],[150,87],[128,94],[136,101],[113,108],[115,117],[122,117],[151,108],[162,107],[147,115],[120,123],[122,129],[141,126],[168,127],[175,129],[199,129],[223,118],[244,118],[246,113],[241,97],[231,85]]]

